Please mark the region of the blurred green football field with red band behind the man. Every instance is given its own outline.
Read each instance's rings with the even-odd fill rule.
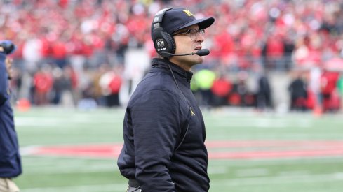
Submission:
[[[15,111],[23,192],[126,191],[123,109]],[[210,191],[342,191],[343,115],[203,111]]]

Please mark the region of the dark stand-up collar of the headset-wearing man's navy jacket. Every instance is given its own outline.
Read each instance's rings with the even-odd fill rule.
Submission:
[[[184,77],[187,79],[187,82],[191,82],[191,77],[193,76],[193,73],[191,71],[185,71],[180,66],[177,66],[176,64],[167,61],[166,59],[160,59],[160,58],[154,58],[152,60],[152,68],[164,68],[169,71],[169,67],[173,70],[173,72],[180,75],[180,77]]]

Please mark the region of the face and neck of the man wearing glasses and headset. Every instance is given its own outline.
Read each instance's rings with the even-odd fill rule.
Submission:
[[[187,33],[188,30],[193,30],[193,34]],[[184,31],[185,33],[179,34],[180,32]],[[180,29],[176,31],[174,34],[176,50],[175,54],[187,54],[191,52],[196,52],[197,50],[201,50],[204,37],[203,34],[200,34],[199,27],[197,24],[191,25],[190,27]],[[186,71],[189,71],[191,66],[196,64],[201,64],[203,62],[203,57],[193,54],[187,56],[173,56],[170,58],[170,61],[174,64],[177,64],[184,68]]]

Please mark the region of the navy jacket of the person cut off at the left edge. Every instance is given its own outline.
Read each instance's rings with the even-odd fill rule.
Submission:
[[[11,178],[21,174],[22,166],[13,122],[5,59],[6,55],[0,53],[0,177]]]

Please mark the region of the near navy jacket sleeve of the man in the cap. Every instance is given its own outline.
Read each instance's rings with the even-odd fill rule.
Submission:
[[[131,110],[136,179],[142,191],[175,191],[168,172],[180,134],[180,110],[175,96],[153,90],[140,96]]]

